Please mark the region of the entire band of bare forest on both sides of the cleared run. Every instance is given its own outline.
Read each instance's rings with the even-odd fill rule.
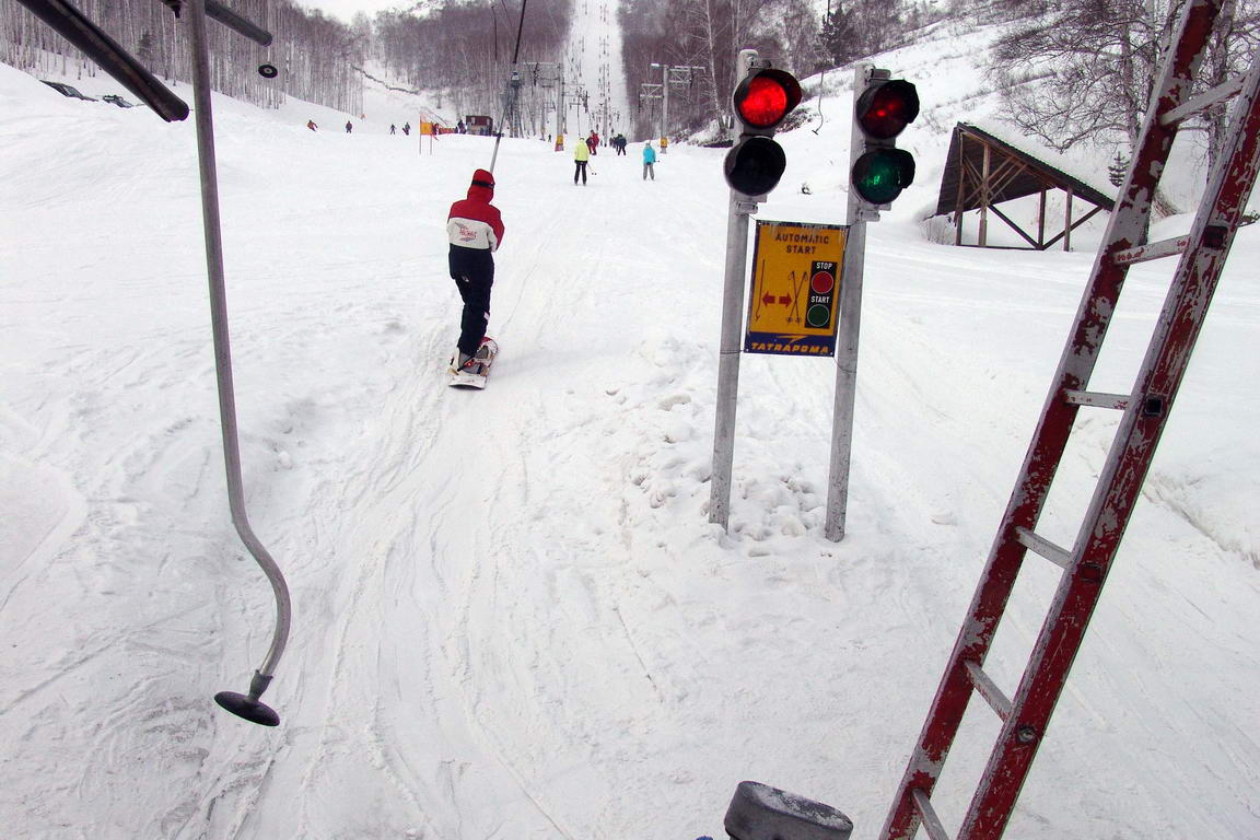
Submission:
[[[171,13],[181,0],[76,0],[150,69],[190,79],[186,33]],[[669,89],[669,132],[730,136],[735,57],[755,48],[800,77],[914,43],[940,21],[1002,25],[988,62],[993,88],[1024,133],[1063,150],[1095,141],[1131,145],[1172,29],[1188,0],[621,0],[621,69],[631,133],[660,127]],[[344,24],[294,0],[226,0],[270,29],[268,48],[212,25],[215,89],[263,107],[286,96],[362,111],[369,64],[447,113],[505,112],[508,79],[520,79],[519,128],[546,131],[554,81],[567,59],[573,0],[416,0]],[[1205,57],[1203,87],[1237,74],[1260,47],[1260,0],[1223,0]],[[0,0],[0,62],[38,73],[98,71],[18,0]],[[267,62],[276,79],[256,72]],[[669,68],[673,68],[669,69]],[[648,86],[656,86],[653,91]],[[653,96],[653,93],[655,96]],[[597,103],[590,103],[595,107]],[[1225,106],[1187,126],[1205,139],[1208,162],[1225,131]]]

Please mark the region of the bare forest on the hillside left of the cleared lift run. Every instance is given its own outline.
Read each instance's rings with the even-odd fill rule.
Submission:
[[[123,49],[166,82],[192,81],[188,30],[175,14],[180,0],[74,0]],[[415,4],[404,13],[358,15],[346,25],[292,0],[224,0],[223,5],[267,29],[270,47],[226,26],[208,26],[215,91],[262,107],[291,96],[348,113],[363,111],[369,60],[456,113],[501,112],[522,0],[496,4]],[[559,54],[568,37],[571,0],[533,0],[524,19],[520,60]],[[554,59],[552,59],[554,60]],[[18,0],[0,0],[0,62],[34,74],[96,76],[101,71]],[[275,79],[257,68],[273,64]],[[527,94],[528,98],[528,94]]]

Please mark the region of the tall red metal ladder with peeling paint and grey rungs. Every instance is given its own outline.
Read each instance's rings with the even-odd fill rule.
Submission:
[[[1193,0],[1173,35],[1121,200],[879,840],[910,840],[920,826],[931,840],[950,840],[931,795],[973,691],[998,714],[1002,729],[956,840],[998,840],[1005,831],[1142,490],[1260,165],[1260,60],[1254,59],[1245,76],[1189,98],[1217,14],[1227,1]],[[1178,123],[1235,94],[1230,139],[1210,175],[1191,233],[1147,243],[1152,199]],[[1089,390],[1129,266],[1178,253],[1181,262],[1133,393]],[[1034,528],[1081,407],[1119,409],[1124,417],[1076,542],[1062,548]],[[1028,550],[1060,565],[1062,577],[1019,686],[1007,698],[983,666]]]

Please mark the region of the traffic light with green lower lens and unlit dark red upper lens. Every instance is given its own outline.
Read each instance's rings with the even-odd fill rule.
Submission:
[[[897,149],[897,135],[919,116],[919,92],[910,82],[888,76],[888,71],[871,71],[853,106],[849,184],[873,210],[888,209],[915,181],[915,157]]]

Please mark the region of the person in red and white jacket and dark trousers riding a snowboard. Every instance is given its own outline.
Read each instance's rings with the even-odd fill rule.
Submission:
[[[459,348],[451,356],[452,370],[464,368],[481,350],[481,339],[490,320],[490,287],[494,286],[491,254],[503,242],[503,219],[499,209],[490,204],[493,199],[494,174],[479,169],[472,173],[469,196],[452,204],[446,217],[451,278],[464,300]]]

